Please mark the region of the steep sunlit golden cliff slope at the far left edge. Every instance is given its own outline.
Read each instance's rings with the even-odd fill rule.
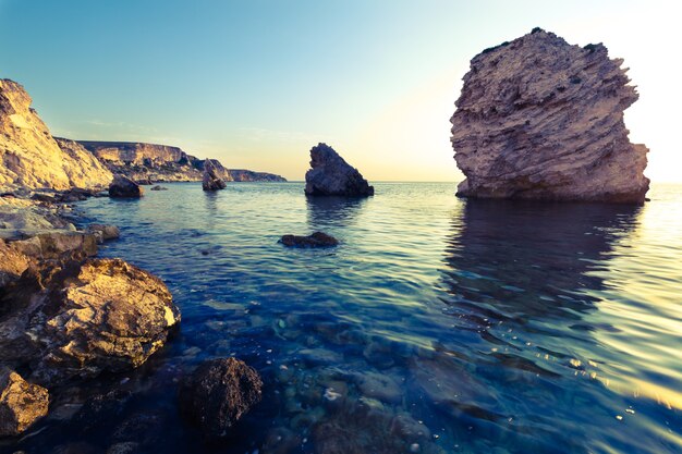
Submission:
[[[0,79],[0,188],[109,184],[111,172],[83,149],[56,142],[31,102],[24,87]]]

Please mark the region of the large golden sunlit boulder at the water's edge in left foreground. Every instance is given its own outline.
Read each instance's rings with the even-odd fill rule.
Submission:
[[[47,384],[135,368],[180,321],[163,282],[120,259],[28,268],[5,287],[5,306],[0,360]]]

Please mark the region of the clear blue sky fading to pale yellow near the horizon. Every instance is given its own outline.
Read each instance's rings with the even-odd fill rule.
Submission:
[[[625,60],[631,139],[682,181],[674,1],[0,0],[0,77],[53,135],[182,147],[303,180],[331,145],[370,181],[460,181],[470,60],[535,26]]]

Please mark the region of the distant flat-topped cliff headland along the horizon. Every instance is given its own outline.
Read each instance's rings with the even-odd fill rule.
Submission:
[[[204,162],[181,148],[133,142],[80,140],[111,172],[121,173],[142,184],[155,182],[202,181]],[[251,170],[226,169],[216,159],[218,175],[227,182],[287,181],[279,175]]]

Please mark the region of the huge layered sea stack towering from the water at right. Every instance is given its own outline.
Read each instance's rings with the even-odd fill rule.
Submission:
[[[628,138],[638,95],[622,63],[540,28],[474,57],[450,120],[458,196],[643,204],[648,149]]]

